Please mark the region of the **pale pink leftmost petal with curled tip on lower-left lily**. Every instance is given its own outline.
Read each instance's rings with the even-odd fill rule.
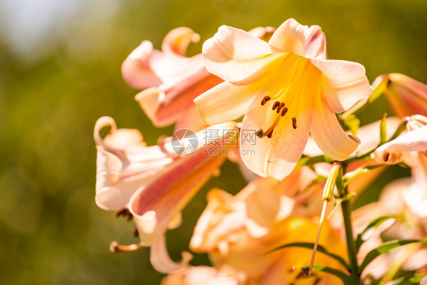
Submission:
[[[111,126],[102,139],[99,132]],[[137,189],[151,177],[179,157],[158,145],[145,146],[138,130],[117,129],[110,117],[102,117],[95,124],[97,144],[96,204],[104,210],[126,207]]]

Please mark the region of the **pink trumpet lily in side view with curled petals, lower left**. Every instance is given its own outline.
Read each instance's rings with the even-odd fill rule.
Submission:
[[[111,131],[102,139],[99,131],[105,126],[110,126]],[[188,252],[183,253],[180,263],[169,257],[165,233],[181,224],[181,211],[225,161],[225,155],[209,153],[232,147],[224,146],[222,138],[235,132],[235,126],[229,122],[199,132],[199,147],[192,154],[181,156],[174,153],[172,139],[159,146],[145,146],[139,131],[117,129],[110,117],[98,120],[94,135],[98,149],[96,202],[105,210],[128,208],[141,240],[140,244],[129,246],[113,242],[111,251],[150,246],[151,264],[165,274],[188,264]],[[218,130],[221,136],[211,144],[203,144],[204,133],[211,130]]]

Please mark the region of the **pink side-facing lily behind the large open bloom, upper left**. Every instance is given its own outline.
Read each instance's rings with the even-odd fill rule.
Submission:
[[[254,35],[267,39],[274,28],[256,28]],[[187,57],[190,43],[200,36],[192,29],[179,27],[163,39],[161,51],[143,41],[122,64],[122,75],[132,87],[147,88],[135,99],[156,127],[177,123],[176,130],[201,130],[205,127],[193,99],[223,80],[206,70],[202,54]]]

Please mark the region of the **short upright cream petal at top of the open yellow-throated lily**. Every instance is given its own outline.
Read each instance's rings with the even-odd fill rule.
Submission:
[[[288,19],[277,28],[269,45],[278,49],[277,52],[290,52],[304,57],[307,33],[308,26],[303,26],[294,19]]]

